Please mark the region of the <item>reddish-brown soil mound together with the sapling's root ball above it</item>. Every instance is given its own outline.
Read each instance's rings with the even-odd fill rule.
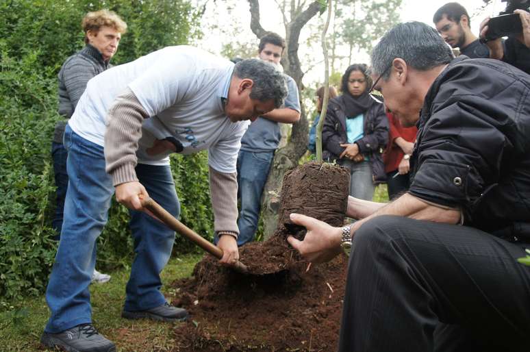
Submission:
[[[335,165],[309,163],[286,173],[277,230],[240,247],[253,275],[205,255],[192,278],[173,284],[180,294],[173,304],[190,312],[175,331],[174,351],[335,351],[347,257],[310,265],[286,238],[305,236],[289,220],[292,212],[342,225],[348,185],[349,171]]]

